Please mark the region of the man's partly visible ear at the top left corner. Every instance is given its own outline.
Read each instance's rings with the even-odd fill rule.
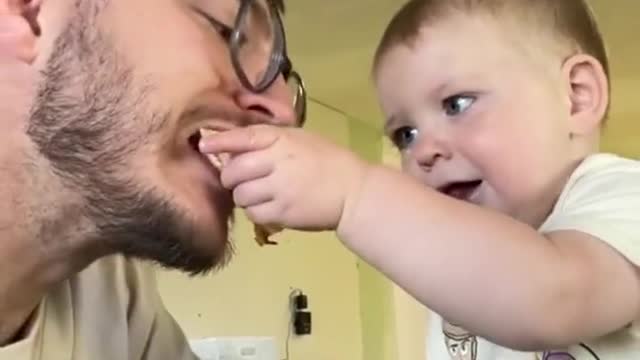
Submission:
[[[0,56],[33,63],[42,0],[0,0]]]

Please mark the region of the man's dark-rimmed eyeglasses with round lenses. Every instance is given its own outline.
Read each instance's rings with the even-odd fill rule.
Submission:
[[[279,76],[284,77],[292,90],[298,125],[304,125],[307,91],[288,57],[280,12],[271,0],[240,0],[233,29],[230,29],[229,48],[236,76],[246,89],[261,93]]]

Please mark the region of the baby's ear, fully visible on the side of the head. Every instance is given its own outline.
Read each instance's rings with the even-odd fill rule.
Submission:
[[[586,54],[568,58],[563,65],[571,103],[570,130],[587,135],[600,128],[609,108],[609,80],[598,60]]]

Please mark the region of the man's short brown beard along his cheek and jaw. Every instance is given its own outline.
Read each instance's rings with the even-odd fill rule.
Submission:
[[[135,155],[149,148],[147,139],[169,115],[149,111],[151,87],[134,86],[133,69],[98,30],[98,9],[91,3],[78,2],[78,16],[55,43],[27,134],[50,163],[51,176],[80,197],[78,220],[92,228],[83,240],[193,275],[224,265],[231,253],[227,239],[217,239],[225,245],[215,254],[199,251],[187,213],[132,175]],[[64,201],[42,206],[63,209]],[[43,221],[67,216],[54,213],[58,219]]]

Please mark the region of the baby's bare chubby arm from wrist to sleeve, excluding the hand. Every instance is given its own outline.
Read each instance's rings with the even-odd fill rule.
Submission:
[[[608,184],[622,193],[607,196],[626,201],[640,193],[640,176],[633,180],[637,185],[629,190]],[[611,205],[601,198],[603,206]],[[640,234],[640,206],[625,210],[631,213],[624,216],[636,217],[635,232],[588,235],[580,226],[561,230],[559,224],[543,236],[376,168],[348,199],[338,235],[448,321],[503,346],[540,350],[602,336],[638,316],[640,249],[630,242]],[[583,220],[595,224],[588,216]],[[635,258],[629,261],[601,234],[626,236]]]

